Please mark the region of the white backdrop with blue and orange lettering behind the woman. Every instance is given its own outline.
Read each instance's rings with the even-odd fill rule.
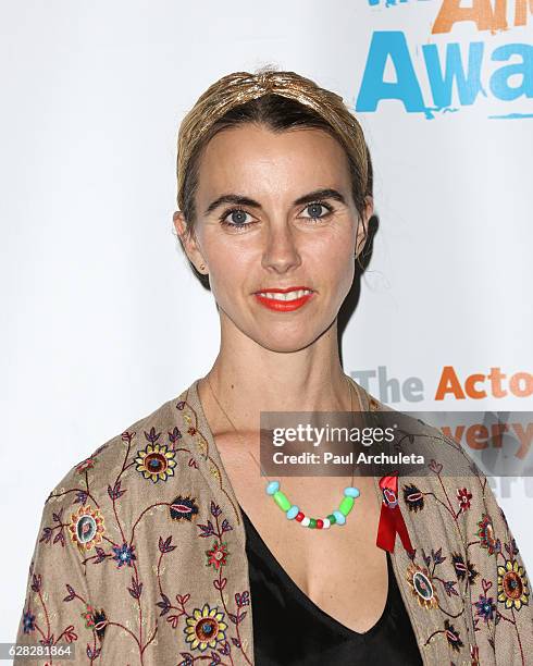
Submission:
[[[178,123],[223,74],[272,63],[358,109],[380,229],[345,370],[418,378],[416,403],[368,384],[397,409],[533,408],[533,16],[515,25],[509,0],[506,30],[495,16],[432,33],[439,13],[466,17],[453,4],[2,2],[0,641],[15,637],[49,492],[216,355],[216,310],[172,212]],[[485,382],[486,398],[435,399],[445,367],[462,386],[493,367],[526,373],[523,395]],[[533,570],[532,485],[496,495]]]

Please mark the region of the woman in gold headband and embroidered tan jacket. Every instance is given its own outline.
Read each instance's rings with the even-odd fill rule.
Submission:
[[[181,125],[177,190],[219,356],[50,493],[17,642],[66,643],[79,664],[528,663],[523,562],[453,440],[420,425],[423,479],[318,473],[265,493],[259,473],[262,411],[388,410],[338,356],[373,210],[342,99],[292,72],[223,77]]]

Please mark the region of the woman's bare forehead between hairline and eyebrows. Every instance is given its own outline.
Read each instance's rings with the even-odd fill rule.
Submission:
[[[344,148],[322,130],[274,133],[251,123],[223,130],[203,149],[198,197],[224,193],[302,194],[321,187],[350,187]]]

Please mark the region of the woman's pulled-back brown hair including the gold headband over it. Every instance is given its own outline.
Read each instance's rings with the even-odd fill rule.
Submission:
[[[183,119],[177,137],[177,207],[188,233],[194,232],[194,195],[198,186],[202,148],[220,131],[243,123],[261,123],[275,132],[319,127],[336,138],[346,151],[352,195],[359,214],[364,197],[372,196],[372,164],[362,128],[331,90],[295,72],[263,67],[256,74],[234,72],[223,76],[198,98]]]

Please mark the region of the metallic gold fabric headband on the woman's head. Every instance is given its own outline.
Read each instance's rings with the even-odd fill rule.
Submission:
[[[183,186],[187,164],[203,135],[234,107],[269,94],[280,95],[311,108],[331,125],[345,147],[357,155],[361,187],[365,193],[369,168],[364,135],[339,95],[320,88],[311,79],[295,72],[235,72],[212,84],[198,98],[179,126],[176,175],[177,205],[181,210],[184,208]]]

